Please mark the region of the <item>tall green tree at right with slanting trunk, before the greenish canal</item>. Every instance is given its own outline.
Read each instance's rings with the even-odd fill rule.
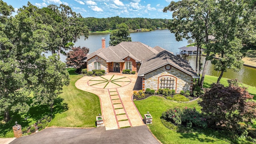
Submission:
[[[212,14],[215,42],[208,50],[211,52],[209,59],[214,64],[214,69],[220,71],[217,83],[227,69],[239,71],[243,66],[242,57],[245,53],[242,50],[242,38],[243,29],[246,29],[249,23],[244,20],[248,10],[250,8],[246,0],[222,0],[216,4]],[[214,56],[219,59],[213,58]]]

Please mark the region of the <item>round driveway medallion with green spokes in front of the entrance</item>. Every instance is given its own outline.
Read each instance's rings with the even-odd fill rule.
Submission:
[[[130,84],[130,78],[120,75],[106,75],[92,78],[88,85],[94,88],[119,88]]]

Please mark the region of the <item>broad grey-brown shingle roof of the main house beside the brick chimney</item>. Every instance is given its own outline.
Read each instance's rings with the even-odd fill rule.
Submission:
[[[124,62],[124,58],[127,56],[136,60],[136,62],[141,62],[142,60],[148,58],[159,52],[160,48],[151,48],[146,44],[141,42],[121,42],[116,46],[109,46],[108,48],[100,48],[92,54],[89,54],[86,60],[97,55],[107,62]]]

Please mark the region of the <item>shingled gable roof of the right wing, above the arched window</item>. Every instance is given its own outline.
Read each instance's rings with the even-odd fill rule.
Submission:
[[[138,72],[138,76],[144,76],[144,74],[152,72],[153,70],[165,66],[166,64],[170,64],[172,67],[192,76],[192,78],[199,78],[188,62],[182,60],[182,58],[179,58],[174,54],[171,54],[167,50],[154,54],[148,59],[143,60]]]

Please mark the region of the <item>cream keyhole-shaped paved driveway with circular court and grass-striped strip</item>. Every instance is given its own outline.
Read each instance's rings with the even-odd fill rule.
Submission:
[[[137,76],[108,73],[105,76],[84,76],[76,87],[99,96],[106,130],[144,125],[132,101]]]

